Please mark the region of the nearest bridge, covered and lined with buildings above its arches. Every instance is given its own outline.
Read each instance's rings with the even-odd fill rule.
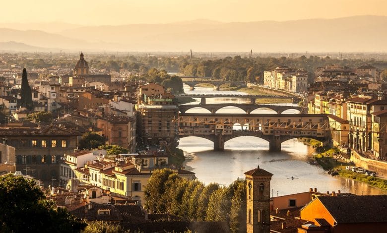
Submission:
[[[269,151],[280,151],[281,143],[307,137],[326,143],[331,125],[323,114],[179,114],[179,138],[202,137],[224,150],[232,138],[255,136],[269,142]],[[233,129],[240,126],[240,130]]]

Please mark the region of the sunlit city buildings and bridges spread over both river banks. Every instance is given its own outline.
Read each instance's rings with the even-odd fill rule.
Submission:
[[[387,84],[383,68],[367,63],[357,67],[328,64],[311,72],[278,66],[264,71],[261,78],[253,75],[256,82],[242,81],[243,87],[264,90],[267,98],[297,100],[299,113],[255,116],[246,111],[216,117],[216,111],[201,115],[181,111],[183,83],[199,80],[214,85],[216,91],[211,84],[216,80],[204,79],[204,74],[167,77],[166,71],[160,71],[168,82],[160,77],[162,82],[149,81],[132,79],[146,73],[139,67],[92,67],[83,53],[71,67],[25,69],[17,62],[28,59],[0,57],[0,173],[34,180],[56,207],[78,219],[116,223],[130,232],[145,233],[387,232],[387,195],[360,195],[356,188],[349,193],[305,187],[303,192],[278,196],[277,191],[275,196],[270,183],[276,174],[260,168],[259,160],[252,165],[255,169],[241,174],[243,181],[214,188],[213,183],[198,184],[195,170],[186,169],[178,148],[186,136],[206,138],[219,151],[233,137],[257,136],[269,141],[270,152],[280,151],[281,143],[289,138],[313,138],[319,141],[316,153],[334,148],[332,159],[345,163],[347,170],[367,171],[368,176],[385,180]],[[172,84],[176,80],[178,87]],[[254,101],[238,105],[255,108],[261,95],[251,94]],[[209,108],[206,97],[200,98],[204,98],[202,108]],[[325,156],[330,155],[326,152]],[[165,190],[162,186],[162,191],[175,194],[174,198],[149,191],[153,175],[159,175],[161,185],[170,185]],[[236,198],[238,190],[243,191],[243,200]],[[201,193],[208,196],[199,198]],[[196,215],[181,211],[184,198],[194,199],[188,207],[205,202],[201,210],[205,216],[199,216],[199,209]],[[221,202],[224,199],[228,204]],[[163,203],[154,204],[155,200]],[[236,203],[240,206],[235,207]],[[232,207],[240,210],[238,221],[232,222],[231,214],[212,216],[211,205],[219,208],[217,215]],[[227,210],[222,209],[225,206]]]

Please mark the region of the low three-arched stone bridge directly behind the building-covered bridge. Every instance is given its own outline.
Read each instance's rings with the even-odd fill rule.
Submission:
[[[296,106],[280,106],[280,105],[255,105],[255,104],[199,104],[199,105],[179,105],[179,111],[181,114],[185,114],[188,110],[193,109],[193,108],[203,108],[208,111],[210,111],[212,114],[215,114],[216,111],[224,108],[224,107],[237,107],[239,109],[242,109],[245,111],[246,114],[250,114],[254,110],[257,109],[262,109],[262,108],[267,108],[275,111],[277,114],[281,114],[282,112],[289,110],[289,109],[294,109],[301,111],[301,107],[296,107]]]

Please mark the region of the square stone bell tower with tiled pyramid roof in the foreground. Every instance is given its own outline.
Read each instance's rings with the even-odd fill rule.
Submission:
[[[269,233],[270,180],[273,174],[258,166],[245,175],[247,233]]]

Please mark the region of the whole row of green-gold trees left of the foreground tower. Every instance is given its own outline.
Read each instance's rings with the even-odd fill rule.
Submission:
[[[156,170],[145,187],[145,207],[192,221],[226,221],[233,233],[246,232],[246,180],[228,187],[187,181],[169,169]]]

